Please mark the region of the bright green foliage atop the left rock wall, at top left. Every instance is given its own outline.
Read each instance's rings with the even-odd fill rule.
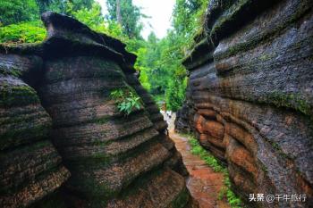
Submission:
[[[42,22],[38,20],[39,10],[40,12],[47,10],[67,12],[67,14],[89,25],[91,29],[105,32],[114,37],[120,36],[122,30],[114,27],[113,24],[108,27],[102,17],[100,5],[96,3],[91,5],[92,2],[94,1],[16,0],[13,3],[11,0],[4,0],[0,3],[0,12],[2,13],[0,21],[5,25],[0,27],[0,43],[36,43],[43,41],[47,32]],[[79,8],[81,9],[78,10]]]

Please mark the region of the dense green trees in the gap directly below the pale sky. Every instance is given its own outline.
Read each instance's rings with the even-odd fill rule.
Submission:
[[[150,86],[148,90],[152,95],[164,95],[168,109],[172,111],[177,111],[184,100],[187,79],[182,57],[173,32],[162,40],[151,33],[136,63],[141,83]]]

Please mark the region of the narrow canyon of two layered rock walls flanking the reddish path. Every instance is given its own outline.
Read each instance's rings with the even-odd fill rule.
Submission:
[[[231,207],[182,134],[227,170],[242,207],[313,207],[311,0],[210,0],[171,129],[121,40],[41,19],[43,42],[0,45],[0,207]],[[118,93],[140,104],[125,113]],[[199,172],[218,180],[203,200],[188,188]]]

